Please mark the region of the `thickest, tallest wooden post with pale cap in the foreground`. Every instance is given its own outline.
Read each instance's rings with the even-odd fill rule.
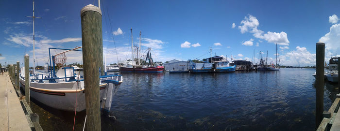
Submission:
[[[102,11],[91,4],[81,10],[87,131],[101,131],[99,67],[102,56]],[[103,68],[101,68],[103,71]]]

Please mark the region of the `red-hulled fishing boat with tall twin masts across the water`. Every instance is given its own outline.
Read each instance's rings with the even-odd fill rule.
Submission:
[[[151,48],[149,47],[145,52],[147,52],[146,58],[143,61],[143,57],[139,58],[138,53],[140,52],[140,40],[141,40],[141,32],[139,31],[139,47],[134,46],[133,44],[133,36],[131,29],[131,58],[132,60],[128,60],[123,65],[119,66],[120,72],[147,72],[147,73],[160,73],[164,71],[164,66],[162,63],[153,62],[153,58],[151,56]],[[144,56],[144,55],[142,55]]]

